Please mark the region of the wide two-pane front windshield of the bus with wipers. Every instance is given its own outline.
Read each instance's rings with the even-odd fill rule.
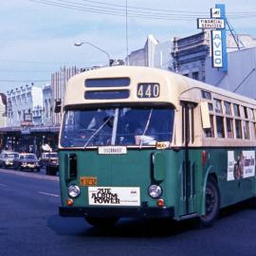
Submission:
[[[63,147],[155,146],[171,141],[174,108],[117,107],[69,110],[64,113]]]

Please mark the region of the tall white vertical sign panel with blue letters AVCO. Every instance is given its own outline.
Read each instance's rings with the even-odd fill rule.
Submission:
[[[223,67],[221,30],[211,30],[211,55],[212,55],[212,66]]]

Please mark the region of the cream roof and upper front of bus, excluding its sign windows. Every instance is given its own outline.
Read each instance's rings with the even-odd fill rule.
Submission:
[[[128,78],[127,86],[97,86],[86,87],[86,80],[94,79],[115,79]],[[157,98],[138,98],[137,84],[138,83],[158,83],[160,86],[160,94]],[[229,92],[224,89],[217,88],[213,85],[198,82],[190,78],[175,74],[170,71],[145,67],[145,66],[110,66],[90,71],[82,72],[72,77],[66,86],[64,96],[64,107],[85,104],[99,103],[125,103],[125,102],[161,102],[172,103],[175,107],[178,106],[180,100],[184,101],[200,101],[201,90],[210,91],[214,94],[225,96],[236,101],[243,101],[247,104],[256,106],[256,101],[247,97]],[[86,99],[85,92],[123,92],[129,91],[129,97],[125,99]]]

